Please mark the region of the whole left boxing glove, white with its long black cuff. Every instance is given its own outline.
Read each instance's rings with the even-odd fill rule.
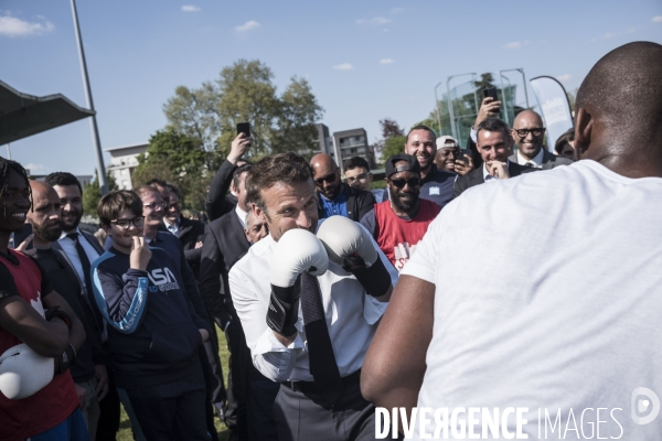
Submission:
[[[267,325],[276,333],[290,336],[297,332],[301,297],[301,273],[321,276],[329,268],[327,250],[316,235],[306,229],[286,232],[274,247],[269,266],[271,298]]]

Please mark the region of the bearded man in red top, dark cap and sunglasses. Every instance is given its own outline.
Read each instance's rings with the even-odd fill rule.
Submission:
[[[410,154],[394,154],[386,160],[389,201],[361,219],[377,245],[398,271],[423,239],[427,227],[439,214],[439,206],[419,197],[420,164]]]

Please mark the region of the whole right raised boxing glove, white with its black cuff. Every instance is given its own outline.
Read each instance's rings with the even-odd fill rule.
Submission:
[[[329,260],[354,275],[366,293],[373,297],[388,293],[391,275],[361,225],[343,216],[331,216],[320,225],[317,236],[324,244]]]

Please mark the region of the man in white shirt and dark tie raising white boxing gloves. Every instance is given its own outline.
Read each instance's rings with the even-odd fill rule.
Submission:
[[[318,229],[311,174],[291,152],[253,165],[248,201],[269,236],[232,267],[229,291],[253,364],[280,383],[280,441],[374,440],[359,377],[397,272],[357,223],[332,216]]]

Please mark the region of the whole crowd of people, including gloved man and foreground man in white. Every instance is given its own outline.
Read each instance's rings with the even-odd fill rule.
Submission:
[[[402,439],[375,406],[662,392],[661,74],[658,44],[607,54],[558,154],[538,114],[511,128],[492,98],[466,150],[416,126],[385,189],[362,158],[250,163],[239,133],[209,223],[154,178],[104,195],[94,236],[73,174],[0,158],[0,439],[115,440],[120,404],[136,440],[217,440],[215,418],[233,440]]]

